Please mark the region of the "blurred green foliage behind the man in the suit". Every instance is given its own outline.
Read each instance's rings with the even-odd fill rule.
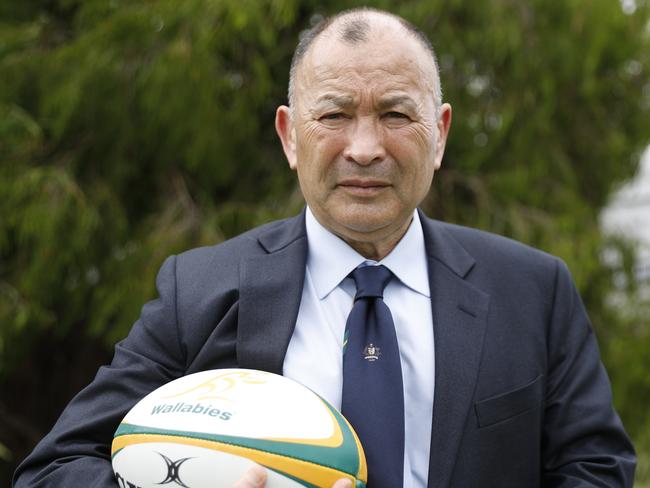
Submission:
[[[273,129],[291,53],[360,4],[0,0],[0,483],[110,359],[167,255],[300,209]],[[649,482],[650,305],[633,280],[613,288],[633,255],[598,215],[650,142],[650,5],[363,4],[439,55],[454,122],[425,210],[568,262]]]

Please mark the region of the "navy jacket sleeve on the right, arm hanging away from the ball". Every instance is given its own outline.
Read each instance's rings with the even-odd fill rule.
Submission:
[[[607,373],[582,301],[558,261],[548,330],[544,487],[631,487],[635,455],[612,407]]]

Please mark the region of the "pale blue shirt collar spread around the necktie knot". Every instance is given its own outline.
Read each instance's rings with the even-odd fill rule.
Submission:
[[[388,256],[379,262],[368,260],[352,249],[343,239],[323,227],[309,207],[306,212],[309,268],[318,298],[323,299],[359,265],[383,264],[407,287],[430,297],[429,274],[424,247],[424,233],[417,211],[406,234]]]

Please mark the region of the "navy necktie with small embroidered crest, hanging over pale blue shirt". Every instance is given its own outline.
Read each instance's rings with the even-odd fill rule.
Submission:
[[[343,346],[341,411],[368,463],[368,488],[398,488],[404,474],[404,391],[395,325],[384,303],[393,274],[385,266],[355,269],[354,306]]]

